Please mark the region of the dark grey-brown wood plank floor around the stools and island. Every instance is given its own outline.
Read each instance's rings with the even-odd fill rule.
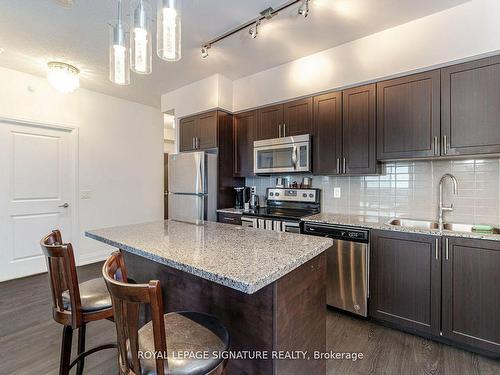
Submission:
[[[80,282],[98,277],[101,266],[79,268]],[[62,327],[52,320],[49,297],[45,274],[0,283],[0,374],[58,373]],[[96,322],[87,328],[88,347],[114,340],[111,322]],[[327,348],[364,355],[357,361],[329,361],[328,375],[500,374],[500,361],[333,311],[328,314]],[[107,350],[88,357],[85,374],[117,374],[116,352]]]

